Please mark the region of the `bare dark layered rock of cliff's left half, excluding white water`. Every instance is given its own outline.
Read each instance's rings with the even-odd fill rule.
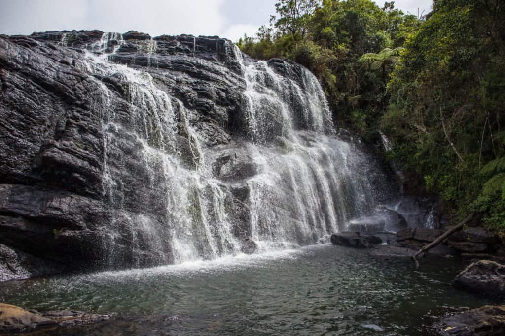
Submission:
[[[194,124],[205,146],[229,143],[230,134],[241,126],[245,83],[227,40],[165,35],[151,40],[132,31],[106,35],[72,31],[0,38],[1,281],[80,267],[172,261],[169,244],[153,251],[152,237],[133,235],[129,228],[140,210],[151,214],[144,221],[166,221],[166,206],[139,164],[138,141],[121,129],[104,128],[103,112],[97,109],[107,99],[117,120],[136,127],[128,121],[134,92],[122,77],[97,80],[86,68],[84,49],[107,53],[119,47],[109,56],[114,62],[145,67],[159,87],[191,108],[184,118]],[[100,94],[104,86],[109,97]],[[177,125],[180,157],[194,168],[198,158],[191,154],[195,143],[185,120]],[[111,175],[121,174],[124,182],[111,194],[104,187],[106,156]],[[237,151],[223,152],[219,160],[216,169],[225,181],[256,173],[250,158]],[[121,204],[111,202],[112,196]],[[232,216],[237,227],[247,227],[244,199],[229,192],[227,204],[236,210]],[[118,205],[121,214],[114,210]],[[110,226],[119,236],[104,230]],[[112,253],[114,260],[107,261],[103,253]]]

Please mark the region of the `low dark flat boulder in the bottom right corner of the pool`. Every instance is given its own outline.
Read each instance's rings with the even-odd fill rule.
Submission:
[[[446,336],[500,336],[505,334],[505,306],[484,306],[447,316],[435,328]]]

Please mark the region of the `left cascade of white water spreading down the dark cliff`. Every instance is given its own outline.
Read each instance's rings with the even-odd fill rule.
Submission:
[[[93,46],[105,51],[109,42],[117,38],[111,33],[104,34],[99,45]],[[151,40],[148,52],[156,52],[156,44]],[[224,211],[226,193],[219,181],[212,176],[205,165],[196,131],[188,121],[188,110],[178,99],[158,89],[153,78],[144,72],[115,64],[107,54],[88,53],[89,71],[100,77],[121,77],[128,87],[128,116],[118,116],[115,107],[110,106],[112,92],[97,81],[101,98],[98,99],[100,114],[103,115],[104,130],[104,196],[113,210],[113,223],[104,227],[112,241],[105,247],[111,254],[111,266],[125,256],[124,250],[149,250],[157,255],[155,260],[133,260],[136,265],[183,262],[199,258],[216,258],[239,251],[239,243],[231,234],[231,224]],[[185,168],[181,162],[179,131],[187,139],[190,160],[194,170]],[[110,167],[111,157],[116,155],[113,148],[121,147],[123,138],[133,138],[138,144],[137,154],[141,170],[147,183],[157,190],[165,209],[162,216],[153,218],[144,214],[134,214],[124,208],[125,194],[120,167]],[[121,162],[114,157],[115,162]],[[119,169],[118,169],[119,168]],[[160,200],[158,200],[160,201]],[[115,257],[117,255],[117,257]]]

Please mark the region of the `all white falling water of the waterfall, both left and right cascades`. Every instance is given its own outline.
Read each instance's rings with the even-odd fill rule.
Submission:
[[[227,45],[246,84],[246,129],[236,150],[257,168],[237,185],[215,172],[212,148],[192,121],[195,110],[158,87],[148,71],[113,62],[110,55],[122,43],[119,34],[104,34],[88,47],[95,52],[87,52],[83,65],[96,82],[102,120],[103,196],[112,216],[103,226],[104,253],[111,267],[124,260],[142,266],[234,255],[251,240],[260,251],[313,244],[380,201],[380,169],[335,136],[324,92],[307,69],[280,60],[246,62]],[[156,47],[151,39],[148,68]],[[113,106],[118,93],[102,78],[121,79],[125,106]],[[241,228],[247,237],[237,233],[230,206],[237,187],[248,190],[247,227]]]

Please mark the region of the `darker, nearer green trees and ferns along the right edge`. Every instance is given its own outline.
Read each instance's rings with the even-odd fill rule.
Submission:
[[[390,75],[383,131],[396,162],[455,211],[505,230],[505,6],[437,0]]]

